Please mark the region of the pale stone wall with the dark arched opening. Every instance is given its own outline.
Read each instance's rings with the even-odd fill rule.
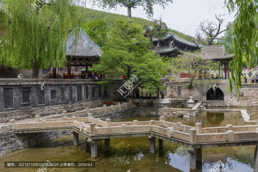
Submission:
[[[229,93],[228,80],[217,80],[216,90],[220,90],[219,99],[207,99],[207,92],[212,88],[208,84],[193,83],[193,88],[187,88],[189,81],[165,82],[165,98],[171,98],[171,107],[187,106],[189,96],[197,103],[202,101],[204,106],[258,106],[258,84],[242,84],[240,92],[242,96],[237,96],[236,89]]]

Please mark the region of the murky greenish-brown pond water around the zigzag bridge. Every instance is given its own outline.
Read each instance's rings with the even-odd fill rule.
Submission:
[[[119,122],[159,120],[159,116],[135,116]],[[205,113],[199,117],[185,119],[165,117],[166,121],[182,122],[194,126],[202,122],[202,127],[245,125],[240,113]],[[4,161],[90,161],[89,144],[80,136],[80,146],[73,146],[73,136],[56,139],[48,143],[23,149],[0,157],[0,171],[35,172],[38,168],[2,168]],[[146,137],[110,139],[110,152],[104,152],[104,141],[97,144],[98,158],[95,168],[55,168],[53,172],[188,172],[189,153],[187,147],[164,141],[164,149],[158,148],[156,139],[155,155],[150,154],[150,143]],[[219,160],[225,164],[225,172],[253,172],[254,146],[203,148],[202,163],[197,163],[197,172],[208,172]],[[49,172],[49,169],[47,172]]]

